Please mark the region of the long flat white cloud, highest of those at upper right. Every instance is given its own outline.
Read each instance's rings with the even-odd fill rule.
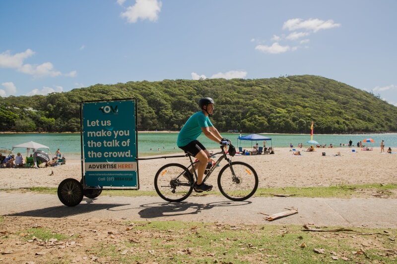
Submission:
[[[308,20],[302,20],[300,18],[289,19],[284,22],[282,29],[288,29],[289,31],[304,29],[308,31],[317,32],[321,29],[330,29],[334,27],[340,27],[341,24],[336,24],[332,19],[324,21],[318,18],[310,18]]]

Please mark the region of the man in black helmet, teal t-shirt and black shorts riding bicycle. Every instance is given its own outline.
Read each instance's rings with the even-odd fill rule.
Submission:
[[[197,140],[201,133],[217,143],[223,144],[228,140],[222,138],[218,130],[209,121],[209,116],[213,113],[214,101],[212,98],[204,97],[199,100],[200,111],[191,115],[186,121],[185,125],[178,134],[177,145],[185,153],[197,158],[199,162],[195,164],[195,169],[197,169],[197,182],[194,184],[194,189],[196,192],[210,191],[212,185],[202,182],[204,176],[204,170],[209,161],[209,152],[205,147]],[[184,175],[188,180],[193,179],[193,171],[190,171],[190,175]]]

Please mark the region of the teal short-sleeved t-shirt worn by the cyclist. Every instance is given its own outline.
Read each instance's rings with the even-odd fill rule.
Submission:
[[[201,127],[210,126],[212,126],[211,121],[209,121],[208,116],[205,116],[202,111],[192,114],[178,134],[178,147],[186,146],[196,140],[202,132]]]

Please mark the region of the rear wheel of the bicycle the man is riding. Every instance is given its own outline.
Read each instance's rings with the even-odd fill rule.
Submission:
[[[185,171],[187,168],[178,163],[162,166],[154,176],[157,194],[168,202],[181,202],[188,198],[193,191],[193,179],[188,181],[182,175]]]

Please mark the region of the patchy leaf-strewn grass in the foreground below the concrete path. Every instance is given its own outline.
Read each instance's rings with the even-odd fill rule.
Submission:
[[[130,230],[132,241],[122,245],[99,244],[91,253],[110,262],[120,263],[323,263],[334,262],[331,256],[346,257],[353,263],[395,263],[387,256],[394,250],[396,229],[386,235],[359,235],[303,231],[301,226],[287,225],[224,225],[213,223],[151,222],[135,223]],[[359,232],[381,232],[379,229],[355,228]],[[137,234],[137,235],[136,235]],[[301,247],[302,243],[306,247]],[[365,254],[353,254],[362,245]],[[314,249],[324,249],[318,254]],[[125,250],[126,255],[116,253]],[[397,256],[397,251],[395,251]],[[103,259],[101,259],[103,260]]]

